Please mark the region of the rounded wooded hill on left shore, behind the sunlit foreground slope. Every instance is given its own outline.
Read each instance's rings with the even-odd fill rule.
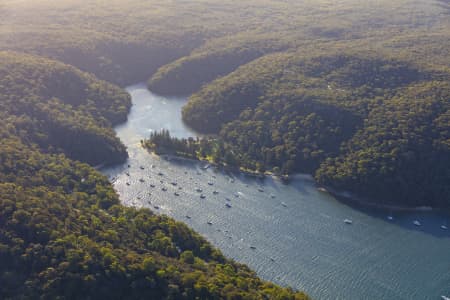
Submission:
[[[0,89],[2,113],[43,151],[92,165],[127,157],[111,128],[131,105],[118,87],[60,62],[0,52]]]

